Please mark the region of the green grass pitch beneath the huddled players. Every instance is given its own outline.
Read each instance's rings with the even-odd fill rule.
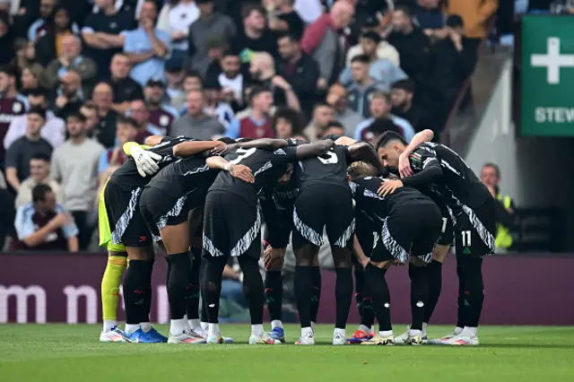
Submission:
[[[448,329],[433,327],[430,334]],[[236,341],[248,339],[249,326],[222,330]],[[466,348],[334,347],[333,326],[319,326],[317,345],[305,347],[98,343],[99,331],[100,326],[0,326],[0,381],[551,382],[574,375],[574,327],[484,326],[481,346]],[[286,332],[292,343],[299,329],[289,326]]]

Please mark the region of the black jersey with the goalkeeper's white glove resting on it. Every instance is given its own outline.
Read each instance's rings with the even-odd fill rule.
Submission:
[[[189,141],[196,141],[196,139],[187,138],[185,136],[178,136],[176,138],[166,136],[161,139],[161,143],[156,144],[155,146],[152,146],[146,150],[161,155],[161,160],[158,161],[158,165],[160,169],[163,169],[170,163],[179,160],[178,157],[173,155],[173,146],[178,143]],[[137,166],[135,165],[134,159],[130,157],[126,163],[114,171],[109,180],[114,182],[117,186],[125,189],[126,191],[130,191],[135,187],[144,187],[148,184],[151,178],[152,177],[149,175],[145,178],[142,178],[142,176],[137,172]]]

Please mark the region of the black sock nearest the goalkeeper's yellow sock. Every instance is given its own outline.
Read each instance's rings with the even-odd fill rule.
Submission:
[[[124,304],[126,306],[126,324],[138,325],[145,314],[145,293],[148,265],[146,261],[129,260],[124,279]]]

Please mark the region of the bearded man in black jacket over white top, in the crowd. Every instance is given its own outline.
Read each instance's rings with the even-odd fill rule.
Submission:
[[[237,53],[228,50],[223,54],[222,74],[219,74],[217,80],[222,85],[223,100],[227,101],[235,112],[243,109],[243,91],[247,78],[241,73],[241,60]]]

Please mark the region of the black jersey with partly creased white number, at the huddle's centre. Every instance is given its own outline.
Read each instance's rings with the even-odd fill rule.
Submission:
[[[300,189],[317,183],[349,187],[347,168],[351,162],[348,147],[340,145],[333,146],[320,157],[299,161],[296,174],[300,180]]]

